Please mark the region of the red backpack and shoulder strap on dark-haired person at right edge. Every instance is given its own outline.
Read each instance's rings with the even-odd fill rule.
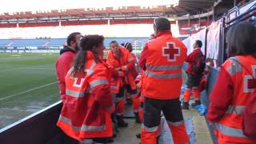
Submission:
[[[234,58],[230,59],[238,62]],[[252,78],[254,78],[254,75],[250,73],[250,70],[243,66],[241,62],[238,62],[238,64],[240,64]],[[256,82],[256,78],[254,78],[254,80]],[[256,139],[256,90],[251,92],[248,98],[242,114],[242,132],[248,138]]]

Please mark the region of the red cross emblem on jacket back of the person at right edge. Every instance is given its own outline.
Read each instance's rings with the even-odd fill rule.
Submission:
[[[253,70],[253,76],[256,78],[256,65],[251,66]],[[253,90],[256,89],[256,79],[251,78],[251,75],[245,75],[244,76],[244,86],[243,86],[243,91],[245,93],[252,92]]]

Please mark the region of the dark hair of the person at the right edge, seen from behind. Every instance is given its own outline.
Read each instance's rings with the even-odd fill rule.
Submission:
[[[256,55],[256,27],[249,22],[239,22],[231,26],[226,34],[229,54]]]

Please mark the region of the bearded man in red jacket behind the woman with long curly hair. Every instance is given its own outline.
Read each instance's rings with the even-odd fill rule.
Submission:
[[[82,38],[82,35],[78,32],[74,32],[70,34],[66,41],[67,46],[64,46],[62,50],[60,50],[60,56],[58,57],[55,68],[58,78],[58,87],[61,94],[61,99],[63,102],[63,96],[66,94],[66,87],[65,87],[65,77],[68,70],[70,70],[70,67],[72,66],[75,54],[79,50],[80,45],[80,38]]]

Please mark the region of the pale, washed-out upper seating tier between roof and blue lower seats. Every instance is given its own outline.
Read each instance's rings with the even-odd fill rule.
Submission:
[[[65,38],[66,35],[79,31],[82,34],[102,34],[106,37],[149,37],[154,33],[152,19],[102,19],[100,21],[66,21],[61,22],[26,22],[0,24],[0,38]],[[207,26],[202,19],[200,26]],[[172,33],[175,37],[194,34],[198,30],[198,20],[178,21],[178,26],[172,21]],[[6,28],[8,27],[8,28]]]

